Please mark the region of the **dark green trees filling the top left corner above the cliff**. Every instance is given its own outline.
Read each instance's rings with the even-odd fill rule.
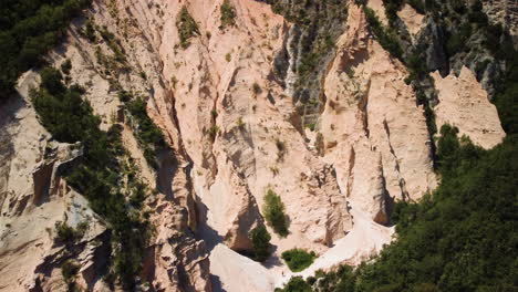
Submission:
[[[0,100],[19,75],[38,65],[63,36],[69,21],[91,0],[2,0],[0,7]]]

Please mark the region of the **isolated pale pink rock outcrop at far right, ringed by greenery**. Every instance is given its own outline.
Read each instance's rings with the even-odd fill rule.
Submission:
[[[453,73],[444,79],[438,72],[431,75],[438,92],[439,104],[434,108],[438,129],[444,124],[456,126],[460,136],[486,149],[504,139],[498,112],[469,69],[463,67],[458,77]]]

